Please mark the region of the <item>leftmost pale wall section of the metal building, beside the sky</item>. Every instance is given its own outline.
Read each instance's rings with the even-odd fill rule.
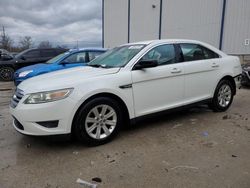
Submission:
[[[128,1],[104,0],[104,46],[111,48],[128,42]]]

